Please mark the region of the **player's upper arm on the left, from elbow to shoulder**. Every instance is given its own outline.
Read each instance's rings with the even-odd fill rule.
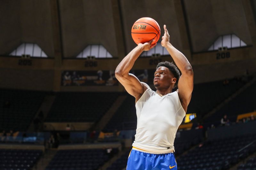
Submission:
[[[125,90],[136,99],[143,94],[143,85],[133,74],[129,73],[126,76],[116,75],[116,78],[124,86]]]

